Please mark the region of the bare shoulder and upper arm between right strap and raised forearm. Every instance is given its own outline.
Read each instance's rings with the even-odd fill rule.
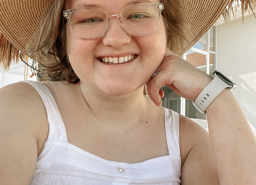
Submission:
[[[219,184],[209,133],[180,115],[181,181],[186,184]]]

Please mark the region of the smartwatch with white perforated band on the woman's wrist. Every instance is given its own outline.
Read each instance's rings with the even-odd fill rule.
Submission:
[[[214,78],[206,85],[204,90],[198,95],[193,105],[203,114],[212,101],[223,91],[225,88],[235,89],[236,84],[221,74],[219,71],[213,72]]]

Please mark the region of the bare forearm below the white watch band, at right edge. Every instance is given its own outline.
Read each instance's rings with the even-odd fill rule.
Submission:
[[[256,184],[256,140],[234,95],[222,91],[206,114],[221,184]]]

